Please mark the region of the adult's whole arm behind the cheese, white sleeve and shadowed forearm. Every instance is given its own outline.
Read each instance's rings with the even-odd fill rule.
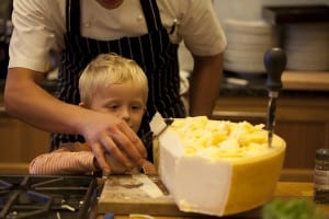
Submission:
[[[189,90],[190,115],[211,116],[223,78],[226,36],[211,0],[180,2],[185,4],[181,8],[185,11],[178,34],[194,59]]]

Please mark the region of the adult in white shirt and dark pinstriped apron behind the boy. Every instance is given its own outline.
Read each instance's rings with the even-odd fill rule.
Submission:
[[[213,111],[226,39],[211,0],[14,0],[12,22],[7,112],[55,132],[53,149],[86,140],[104,174],[110,168],[103,151],[126,166],[140,165],[147,153],[125,122],[75,105],[80,71],[97,55],[116,53],[146,72],[150,92],[139,136],[156,111],[163,117],[186,115],[179,96],[182,39],[194,57],[190,115]],[[61,55],[58,99],[41,87],[52,49]]]

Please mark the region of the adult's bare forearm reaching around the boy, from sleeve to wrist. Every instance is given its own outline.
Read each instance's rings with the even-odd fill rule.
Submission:
[[[10,69],[4,89],[5,111],[45,131],[78,134],[75,124],[83,118],[86,110],[55,99],[37,85],[42,78],[42,73],[27,69]]]

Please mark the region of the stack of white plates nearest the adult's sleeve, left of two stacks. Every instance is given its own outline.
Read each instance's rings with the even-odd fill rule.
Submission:
[[[227,20],[224,68],[238,73],[265,73],[263,57],[279,44],[277,30],[263,21]]]

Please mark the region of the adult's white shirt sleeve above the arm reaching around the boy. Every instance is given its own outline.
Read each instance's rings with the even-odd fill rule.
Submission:
[[[13,1],[9,68],[22,67],[39,72],[48,69],[49,51],[64,45],[61,7],[57,0]]]

